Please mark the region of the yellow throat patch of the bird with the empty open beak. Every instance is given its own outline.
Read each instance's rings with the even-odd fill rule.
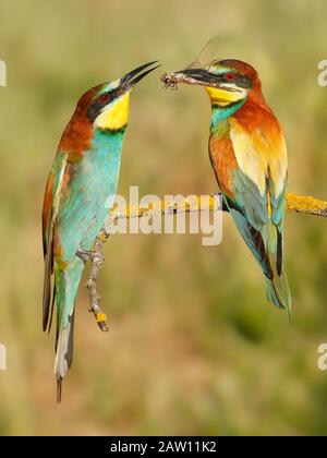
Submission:
[[[117,101],[105,108],[95,121],[96,126],[99,129],[118,131],[126,125],[129,121],[129,108],[130,91],[119,97]]]

